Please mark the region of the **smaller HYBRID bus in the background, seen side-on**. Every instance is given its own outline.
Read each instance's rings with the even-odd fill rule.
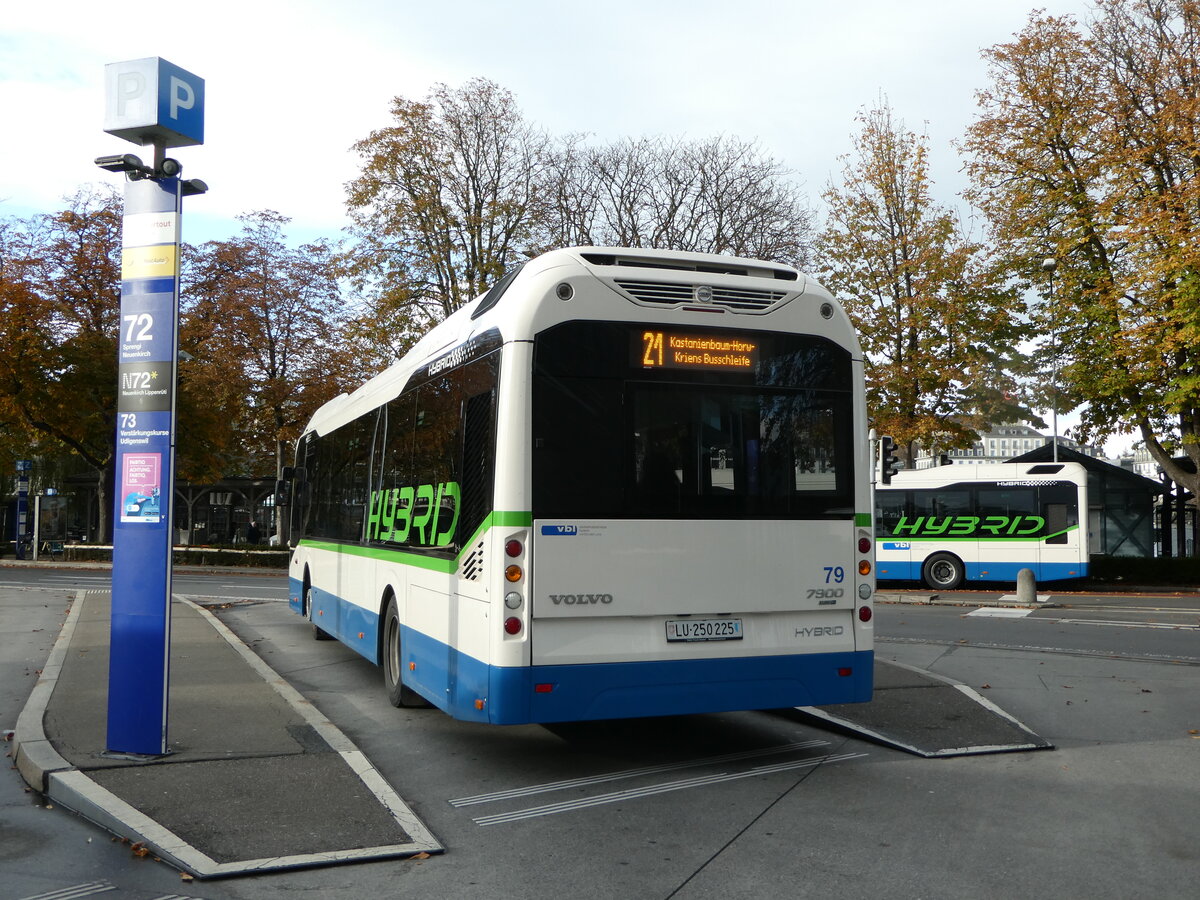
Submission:
[[[899,472],[875,493],[880,580],[953,590],[965,581],[1087,575],[1087,470],[1078,462]]]

